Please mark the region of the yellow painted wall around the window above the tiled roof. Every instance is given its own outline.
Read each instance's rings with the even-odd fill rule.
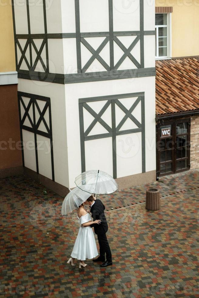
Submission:
[[[199,0],[156,0],[156,6],[173,6],[172,57],[199,55]]]

